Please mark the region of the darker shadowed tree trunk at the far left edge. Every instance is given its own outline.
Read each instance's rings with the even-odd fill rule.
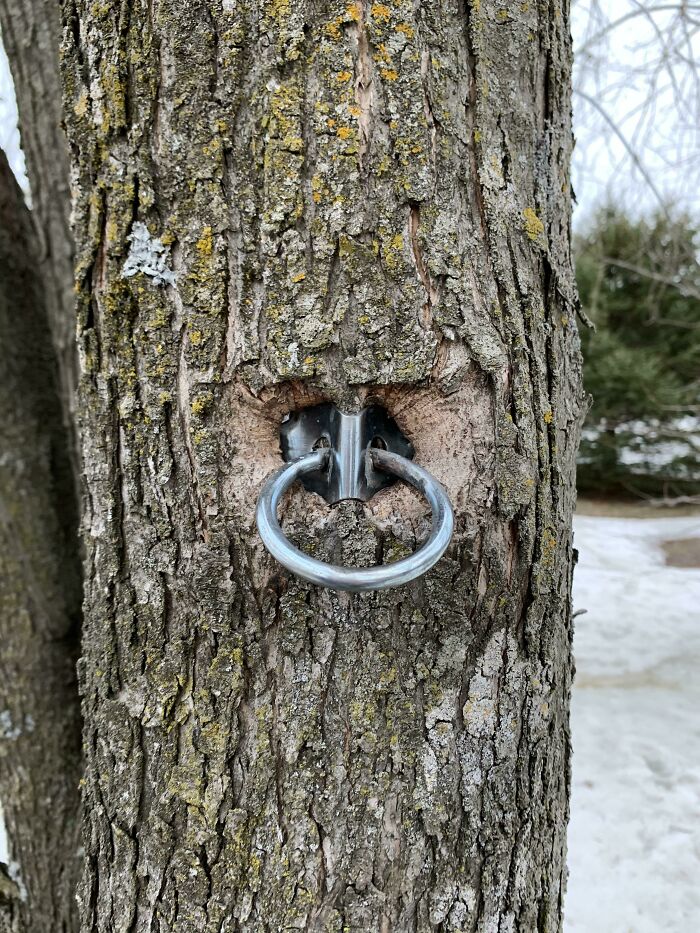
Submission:
[[[35,245],[0,153],[0,923],[23,933],[77,929],[81,864],[77,509]]]

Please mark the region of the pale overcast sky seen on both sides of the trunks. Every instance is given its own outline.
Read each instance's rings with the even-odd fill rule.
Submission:
[[[700,0],[574,0],[574,222],[609,200],[700,209]],[[601,7],[603,8],[601,10]],[[697,22],[697,25],[695,23]],[[27,190],[17,110],[0,48],[0,147]]]

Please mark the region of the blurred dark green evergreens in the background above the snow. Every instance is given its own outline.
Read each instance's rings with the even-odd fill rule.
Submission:
[[[586,495],[700,494],[698,227],[613,209],[575,240],[593,396],[579,460]]]

